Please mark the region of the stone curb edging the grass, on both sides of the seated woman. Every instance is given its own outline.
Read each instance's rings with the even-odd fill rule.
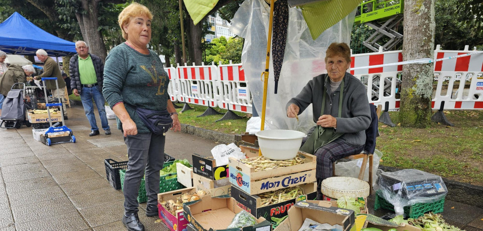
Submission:
[[[235,142],[235,135],[229,135],[204,128],[197,128],[187,124],[181,124],[181,132],[196,135],[220,143],[230,144]],[[379,169],[385,172],[401,170],[383,165],[379,165]],[[481,200],[483,195],[483,186],[463,183],[456,180],[449,180],[446,178],[443,178],[443,181],[448,188],[448,195],[446,195],[447,200],[483,208],[483,200]]]

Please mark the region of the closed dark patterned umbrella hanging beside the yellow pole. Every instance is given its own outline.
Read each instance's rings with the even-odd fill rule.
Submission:
[[[287,26],[289,26],[289,4],[287,0],[278,0],[273,9],[272,59],[275,91],[277,94],[278,79],[284,62],[285,44],[287,43]]]

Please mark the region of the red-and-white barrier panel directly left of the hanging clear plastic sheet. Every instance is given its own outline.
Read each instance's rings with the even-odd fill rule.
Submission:
[[[252,113],[252,95],[242,64],[220,64],[218,106],[231,111]]]

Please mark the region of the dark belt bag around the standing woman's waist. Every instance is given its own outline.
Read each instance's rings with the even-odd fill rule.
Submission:
[[[165,135],[169,128],[173,126],[173,119],[171,119],[168,110],[156,111],[140,107],[135,108],[137,115],[146,127],[157,135]]]

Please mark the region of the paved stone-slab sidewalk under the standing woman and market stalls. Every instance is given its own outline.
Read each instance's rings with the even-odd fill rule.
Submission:
[[[89,137],[81,105],[68,109],[67,127],[76,143],[47,146],[32,129],[0,129],[0,231],[123,231],[124,196],[105,179],[104,159],[127,160],[126,145],[115,120],[112,134]],[[97,118],[100,125],[100,120]],[[192,161],[210,155],[216,142],[180,132],[166,136],[165,153]],[[147,231],[167,231],[156,217],[139,217]],[[374,199],[369,199],[373,212]],[[387,211],[377,210],[376,215]],[[467,231],[483,230],[483,208],[446,201],[445,219]]]

